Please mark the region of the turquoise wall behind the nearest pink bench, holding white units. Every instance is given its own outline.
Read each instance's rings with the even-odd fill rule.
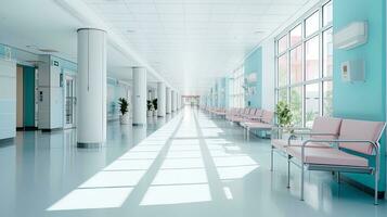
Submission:
[[[334,116],[386,120],[386,5],[385,0],[335,0],[334,31],[356,21],[369,22],[369,41],[352,50],[334,50]],[[340,79],[341,62],[362,59],[365,61],[365,82],[343,82]],[[385,139],[382,153],[386,152]],[[385,190],[386,162],[382,157],[380,190]],[[347,175],[357,181],[373,187],[372,176]]]

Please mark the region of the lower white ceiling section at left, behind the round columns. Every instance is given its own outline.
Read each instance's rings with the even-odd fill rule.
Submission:
[[[53,0],[10,0],[0,7],[0,43],[31,53],[53,49],[60,58],[77,61],[77,29],[86,25],[67,13]],[[132,77],[131,67],[138,62],[122,55],[111,44],[107,47],[107,75],[125,81]],[[24,55],[22,62],[37,61],[34,55]],[[157,79],[149,74],[151,82]]]

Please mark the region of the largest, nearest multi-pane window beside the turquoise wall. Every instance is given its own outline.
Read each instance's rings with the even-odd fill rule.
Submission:
[[[278,37],[276,102],[289,104],[294,126],[332,115],[332,1],[325,1]]]

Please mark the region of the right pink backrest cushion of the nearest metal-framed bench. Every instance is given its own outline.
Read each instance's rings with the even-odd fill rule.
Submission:
[[[343,119],[339,139],[369,140],[376,143],[380,139],[384,128],[385,123],[383,122]],[[367,155],[373,154],[373,145],[369,143],[340,142],[339,148]]]

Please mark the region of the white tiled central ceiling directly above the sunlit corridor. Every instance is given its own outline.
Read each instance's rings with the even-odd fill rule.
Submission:
[[[232,72],[308,0],[83,0],[185,94]]]

